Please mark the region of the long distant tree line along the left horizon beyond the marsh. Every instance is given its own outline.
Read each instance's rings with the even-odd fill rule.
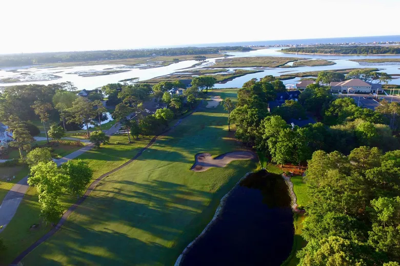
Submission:
[[[97,60],[115,60],[151,56],[177,56],[177,55],[201,55],[217,54],[222,50],[250,51],[250,48],[242,46],[234,47],[184,47],[163,49],[135,49],[135,50],[107,50],[84,52],[54,52],[0,55],[0,66],[22,66],[56,62],[81,62]],[[203,58],[199,58],[203,59]]]

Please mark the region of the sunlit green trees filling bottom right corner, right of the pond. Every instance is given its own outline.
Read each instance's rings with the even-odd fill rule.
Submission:
[[[399,265],[399,176],[400,150],[315,151],[299,265]]]

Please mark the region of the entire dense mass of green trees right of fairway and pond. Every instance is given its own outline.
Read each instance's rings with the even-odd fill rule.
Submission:
[[[250,80],[228,110],[235,136],[277,164],[306,164],[310,202],[299,265],[385,265],[400,262],[400,104],[375,110],[335,98],[310,84],[298,97],[268,111],[278,86]],[[233,109],[233,110],[232,110]],[[319,122],[292,126],[292,119]]]

